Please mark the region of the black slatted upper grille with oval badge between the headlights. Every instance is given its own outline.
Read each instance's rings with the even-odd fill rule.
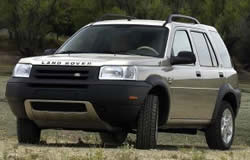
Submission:
[[[34,79],[93,80],[98,75],[98,67],[73,66],[33,66],[31,77]]]

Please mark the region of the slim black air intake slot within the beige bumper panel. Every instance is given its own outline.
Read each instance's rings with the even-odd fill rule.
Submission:
[[[49,112],[86,112],[86,106],[82,103],[63,102],[31,102],[31,107],[37,111]]]

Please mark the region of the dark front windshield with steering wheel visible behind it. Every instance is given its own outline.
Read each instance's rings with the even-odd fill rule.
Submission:
[[[155,26],[100,25],[80,30],[57,53],[131,54],[163,57],[168,29]]]

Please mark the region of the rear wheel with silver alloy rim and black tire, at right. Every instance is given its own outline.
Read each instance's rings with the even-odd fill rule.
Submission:
[[[227,122],[225,123],[224,120],[227,120]],[[205,132],[208,147],[210,149],[219,149],[219,150],[230,149],[234,139],[234,132],[235,132],[235,115],[232,106],[227,101],[222,101],[215,122],[211,124]]]

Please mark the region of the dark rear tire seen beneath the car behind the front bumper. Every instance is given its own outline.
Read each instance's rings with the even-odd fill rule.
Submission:
[[[126,140],[128,132],[117,132],[117,133],[100,133],[102,145],[116,145],[120,146]]]

